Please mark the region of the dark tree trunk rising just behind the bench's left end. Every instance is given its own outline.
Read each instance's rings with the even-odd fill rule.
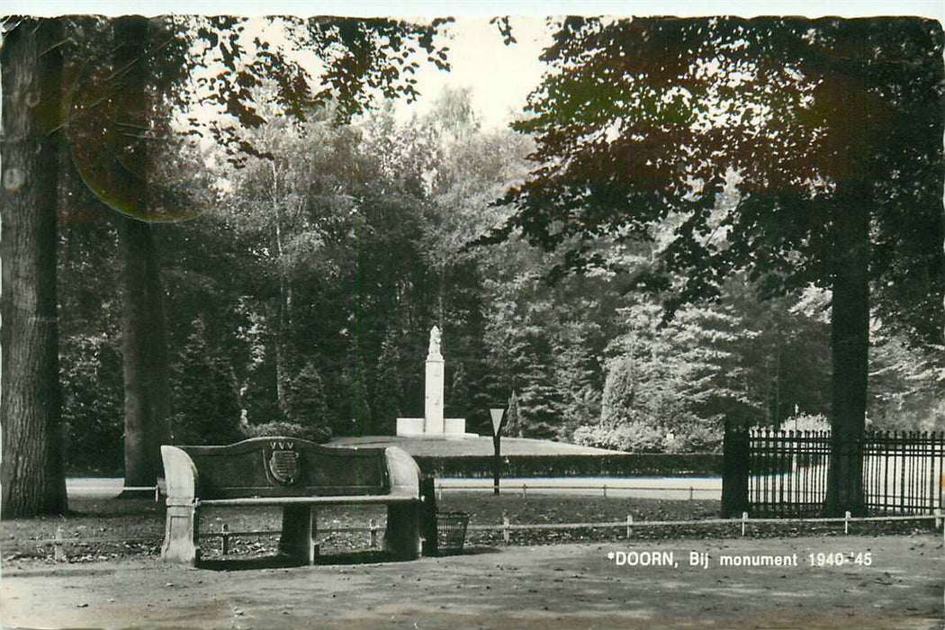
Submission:
[[[124,123],[147,128],[146,18],[130,16],[114,22],[114,65],[122,78],[116,98]],[[145,143],[116,130],[117,150],[131,173],[144,180],[138,191],[147,216],[147,149]],[[124,267],[122,350],[125,376],[125,485],[153,485],[161,475],[161,445],[170,441],[167,340],[165,334],[161,266],[151,226],[121,216],[119,247]]]

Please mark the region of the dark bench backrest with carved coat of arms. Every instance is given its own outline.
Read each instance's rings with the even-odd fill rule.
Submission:
[[[382,495],[391,491],[385,449],[324,447],[293,437],[254,437],[229,446],[164,448],[193,462],[199,499]],[[168,482],[172,477],[165,470]],[[174,475],[176,476],[176,475]]]

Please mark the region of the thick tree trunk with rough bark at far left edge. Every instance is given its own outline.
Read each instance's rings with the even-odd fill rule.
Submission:
[[[66,511],[56,314],[59,20],[5,34],[3,68],[4,519]]]

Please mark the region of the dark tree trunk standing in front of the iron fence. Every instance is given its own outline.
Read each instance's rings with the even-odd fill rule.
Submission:
[[[866,512],[862,437],[869,351],[869,210],[863,185],[837,191],[833,211],[833,412],[825,512]]]

